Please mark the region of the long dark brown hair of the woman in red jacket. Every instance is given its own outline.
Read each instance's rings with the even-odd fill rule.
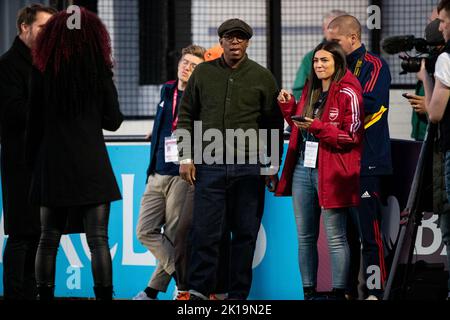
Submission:
[[[319,50],[325,50],[332,54],[334,59],[334,74],[331,77],[331,83],[339,82],[347,72],[347,62],[345,58],[344,50],[342,47],[333,41],[324,41],[320,43],[315,49],[313,54],[313,63],[311,65],[311,70],[309,74],[309,88],[308,96],[306,100],[305,111],[303,112],[306,117],[313,118],[314,104],[319,100],[320,94],[322,93],[322,80],[317,78],[314,72],[314,56]],[[318,117],[320,117],[322,112],[320,111]]]

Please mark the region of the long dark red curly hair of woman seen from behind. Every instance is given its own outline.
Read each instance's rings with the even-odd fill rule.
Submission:
[[[79,29],[69,28],[72,14],[61,11],[39,33],[33,61],[45,78],[45,95],[58,111],[76,115],[96,101],[99,81],[111,74],[111,40],[105,25],[80,8]]]

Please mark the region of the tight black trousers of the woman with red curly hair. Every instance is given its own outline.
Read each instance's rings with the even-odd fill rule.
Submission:
[[[56,253],[66,225],[67,209],[41,207],[41,240],[36,256],[38,286],[55,285]],[[112,262],[108,245],[109,209],[109,203],[77,207],[83,216],[96,287],[112,286]]]

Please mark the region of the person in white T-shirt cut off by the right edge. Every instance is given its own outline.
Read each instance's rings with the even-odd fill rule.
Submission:
[[[423,82],[425,89],[425,108],[429,120],[438,123],[441,151],[445,154],[445,186],[447,202],[450,202],[450,0],[441,0],[438,5],[439,31],[446,41],[444,52],[437,59],[433,79],[425,68],[425,60],[422,60],[418,78]],[[439,216],[439,224],[442,232],[442,240],[447,249],[447,261],[450,265],[450,213],[443,212]],[[450,299],[450,280],[448,283]]]

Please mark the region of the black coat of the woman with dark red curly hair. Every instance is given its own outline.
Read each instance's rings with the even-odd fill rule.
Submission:
[[[77,116],[58,112],[64,102],[49,102],[44,79],[33,68],[26,139],[32,203],[54,208],[121,199],[102,132],[123,120],[112,72],[99,79],[101,94]]]

